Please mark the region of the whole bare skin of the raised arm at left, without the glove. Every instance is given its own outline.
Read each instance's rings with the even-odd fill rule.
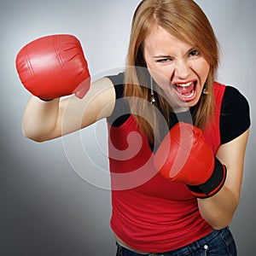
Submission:
[[[44,142],[78,131],[108,117],[114,101],[113,84],[106,78],[92,83],[83,99],[71,96],[62,101],[44,102],[31,96],[23,115],[23,134],[34,141]]]

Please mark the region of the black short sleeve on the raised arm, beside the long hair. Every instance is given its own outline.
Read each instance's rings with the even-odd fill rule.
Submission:
[[[107,118],[107,120],[110,125],[119,127],[120,125],[123,125],[131,115],[129,103],[124,98],[125,73],[108,76],[107,78],[112,81],[115,90],[113,113]]]

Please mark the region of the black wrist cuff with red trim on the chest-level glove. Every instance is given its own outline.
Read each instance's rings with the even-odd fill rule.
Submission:
[[[206,183],[201,185],[191,186],[187,185],[198,198],[211,197],[218,193],[218,191],[223,187],[225,179],[227,176],[227,168],[224,166],[217,158],[215,158],[215,166],[212,172],[212,176],[207,180]]]

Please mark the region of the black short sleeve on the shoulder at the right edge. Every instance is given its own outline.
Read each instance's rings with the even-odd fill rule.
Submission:
[[[221,144],[229,143],[251,125],[247,99],[239,90],[226,86],[220,115]]]

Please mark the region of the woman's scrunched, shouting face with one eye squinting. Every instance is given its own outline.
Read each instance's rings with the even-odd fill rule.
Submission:
[[[175,111],[195,106],[210,70],[195,45],[183,43],[158,26],[144,41],[144,58]]]

